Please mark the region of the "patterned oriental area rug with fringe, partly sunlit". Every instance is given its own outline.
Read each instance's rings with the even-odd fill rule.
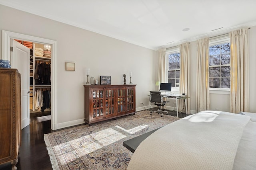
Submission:
[[[180,118],[139,111],[92,126],[81,125],[45,134],[44,141],[54,170],[126,169],[132,152],[123,142]]]

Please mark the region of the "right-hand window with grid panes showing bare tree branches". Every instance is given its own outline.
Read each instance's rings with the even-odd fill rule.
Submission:
[[[209,54],[210,88],[230,88],[229,38],[228,42],[225,43],[221,42],[214,45],[210,44]]]

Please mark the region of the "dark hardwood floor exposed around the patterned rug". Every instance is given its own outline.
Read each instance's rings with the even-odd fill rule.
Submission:
[[[50,120],[38,119],[38,117],[46,115],[50,115],[50,112],[31,113],[30,125],[22,129],[22,143],[16,164],[18,170],[52,170],[48,150],[44,143],[44,134],[53,132],[51,123]],[[176,116],[176,111],[168,111],[168,115]],[[186,116],[186,113],[178,114],[178,117],[181,118]],[[62,129],[56,131],[60,130]],[[0,165],[0,170],[11,170],[10,163]]]

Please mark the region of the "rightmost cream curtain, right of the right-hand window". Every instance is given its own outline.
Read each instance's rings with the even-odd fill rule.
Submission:
[[[230,35],[230,112],[249,111],[248,28]]]

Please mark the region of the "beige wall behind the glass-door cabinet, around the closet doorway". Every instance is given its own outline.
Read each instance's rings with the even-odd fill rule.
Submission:
[[[73,125],[72,121],[83,122],[86,68],[98,80],[101,75],[111,76],[111,84],[123,84],[123,74],[128,77],[132,71],[137,110],[144,109],[140,102],[148,103],[158,70],[156,51],[2,5],[0,16],[1,31],[57,41],[58,129]],[[2,41],[0,48],[2,54]],[[65,71],[65,62],[75,63],[75,71]]]

